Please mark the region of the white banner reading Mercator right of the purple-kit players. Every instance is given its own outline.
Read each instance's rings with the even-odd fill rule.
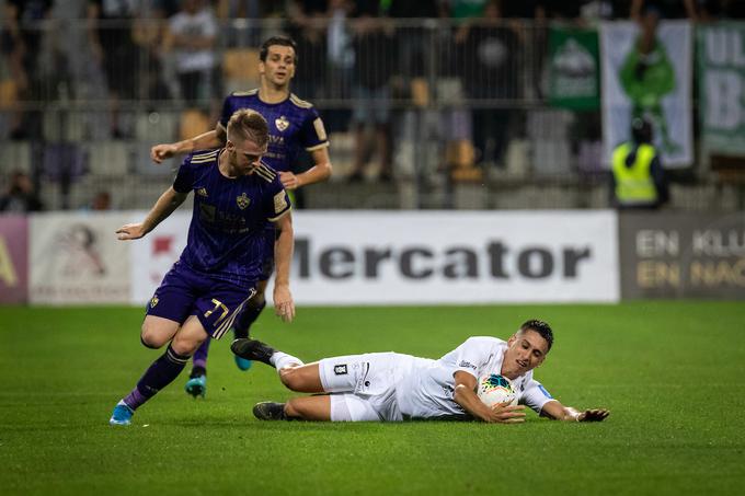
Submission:
[[[610,210],[296,212],[294,229],[298,304],[619,300]]]

